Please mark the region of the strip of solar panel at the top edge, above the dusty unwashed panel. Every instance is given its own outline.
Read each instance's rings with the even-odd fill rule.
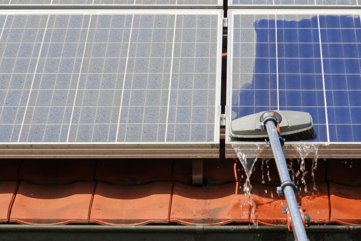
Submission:
[[[221,0],[3,0],[0,5],[223,6]]]

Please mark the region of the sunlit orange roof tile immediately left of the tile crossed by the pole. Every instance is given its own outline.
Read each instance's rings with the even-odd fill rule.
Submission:
[[[208,187],[175,182],[170,221],[184,224],[249,222],[249,197],[237,182]]]

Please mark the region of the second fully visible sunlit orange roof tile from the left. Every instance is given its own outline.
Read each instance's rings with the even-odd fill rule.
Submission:
[[[98,182],[90,222],[134,225],[168,222],[172,182],[121,186]]]

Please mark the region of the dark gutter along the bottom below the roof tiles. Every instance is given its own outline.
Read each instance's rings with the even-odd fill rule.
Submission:
[[[359,240],[361,226],[312,225],[310,240]],[[1,224],[0,240],[293,240],[286,225],[23,225]]]

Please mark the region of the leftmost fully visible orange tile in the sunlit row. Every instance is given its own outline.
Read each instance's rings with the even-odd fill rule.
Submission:
[[[21,182],[11,222],[29,224],[87,223],[95,182],[45,186]]]

